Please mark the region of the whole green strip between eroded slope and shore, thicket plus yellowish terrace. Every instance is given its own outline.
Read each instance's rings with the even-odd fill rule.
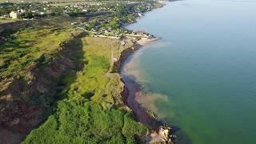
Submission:
[[[127,46],[110,38],[83,38],[83,70],[70,74],[55,114],[22,143],[135,143],[147,128],[123,109],[122,82],[111,74],[111,54]],[[130,45],[130,42],[128,42]],[[74,82],[70,79],[76,78]]]

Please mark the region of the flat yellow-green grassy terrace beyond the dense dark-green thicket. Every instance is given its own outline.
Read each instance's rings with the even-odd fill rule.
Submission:
[[[87,64],[84,70],[78,72],[76,82],[70,85],[67,92],[69,98],[77,102],[84,102],[90,97],[95,102],[122,102],[122,83],[118,74],[106,74],[110,69],[111,50],[119,46],[118,40],[85,38],[83,42]]]

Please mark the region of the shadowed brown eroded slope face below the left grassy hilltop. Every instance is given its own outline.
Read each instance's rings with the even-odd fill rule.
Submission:
[[[83,35],[62,42],[50,61],[46,62],[42,55],[26,78],[0,79],[0,143],[20,142],[44,120],[63,90],[62,78],[79,67]]]

